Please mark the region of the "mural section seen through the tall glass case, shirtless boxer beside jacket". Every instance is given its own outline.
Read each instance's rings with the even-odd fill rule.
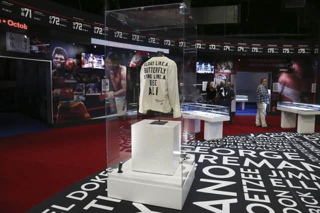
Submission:
[[[105,57],[107,86],[102,89],[106,98],[106,113],[117,115],[136,114],[139,95],[139,73],[141,65],[149,57],[145,51],[108,48]],[[101,95],[101,96],[102,96]],[[114,108],[112,108],[114,104]],[[109,111],[110,112],[109,112]]]

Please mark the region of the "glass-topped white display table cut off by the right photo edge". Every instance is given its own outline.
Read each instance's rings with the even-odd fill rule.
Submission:
[[[315,115],[320,114],[319,105],[277,102],[276,109],[281,111],[281,128],[295,128],[297,114],[297,133],[310,134],[314,132]]]

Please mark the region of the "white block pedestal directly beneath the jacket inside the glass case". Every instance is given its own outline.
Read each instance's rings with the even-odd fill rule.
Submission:
[[[142,120],[131,125],[132,170],[173,175],[179,165],[181,122]]]

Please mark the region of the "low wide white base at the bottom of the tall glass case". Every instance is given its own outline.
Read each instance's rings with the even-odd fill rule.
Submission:
[[[194,179],[194,162],[177,168],[173,176],[132,171],[131,160],[113,171],[107,181],[107,195],[125,201],[181,210]],[[188,166],[188,167],[187,167]],[[181,174],[187,173],[185,177]]]

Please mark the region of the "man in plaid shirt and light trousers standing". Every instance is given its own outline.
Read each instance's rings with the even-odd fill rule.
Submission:
[[[265,122],[265,109],[266,105],[270,103],[270,98],[266,85],[268,81],[265,78],[260,80],[260,85],[256,88],[256,105],[257,111],[255,116],[255,125],[263,128],[270,128]]]

